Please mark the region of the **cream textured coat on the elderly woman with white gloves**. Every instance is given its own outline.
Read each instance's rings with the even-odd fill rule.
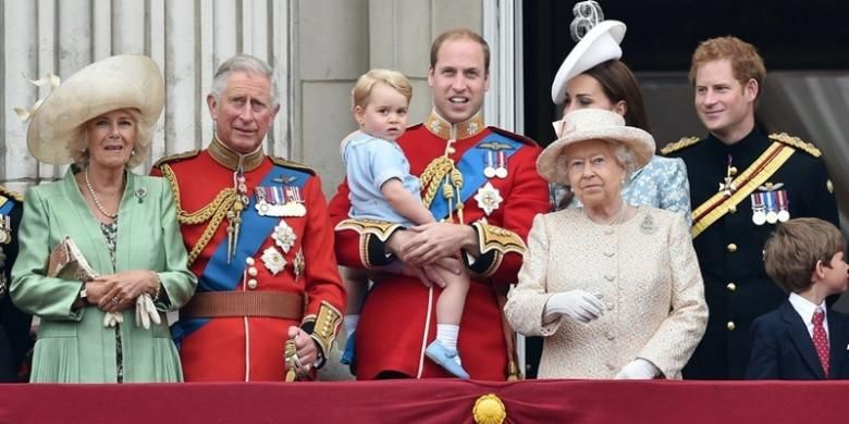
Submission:
[[[505,313],[518,333],[545,338],[540,378],[612,378],[636,358],[680,378],[707,322],[687,224],[660,209],[614,226],[581,209],[537,215],[518,278]],[[543,324],[547,299],[573,289],[601,294],[604,314]]]

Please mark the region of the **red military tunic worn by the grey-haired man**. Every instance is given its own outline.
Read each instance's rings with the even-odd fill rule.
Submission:
[[[195,258],[192,254],[193,249],[204,238],[210,221],[214,220],[210,217],[195,223],[194,221],[198,219],[193,221],[189,214],[213,204],[222,191],[234,187],[233,158],[237,158],[235,153],[224,148],[220,141],[213,140],[209,150],[167,158],[157,163],[153,169],[153,174],[164,174],[172,183],[177,199],[183,238],[189,251],[189,261]],[[232,164],[232,167],[223,165],[227,163]],[[187,320],[181,313],[181,321],[176,324],[180,329],[175,333],[184,333],[184,337],[179,341],[186,382],[282,382],[285,374],[283,350],[288,339],[288,327],[299,325],[312,334],[321,349],[327,350],[339,328],[342,316],[339,311],[344,311],[345,308],[345,294],[333,253],[333,230],[328,220],[327,203],[319,177],[302,166],[264,157],[261,150],[246,155],[243,166],[247,194],[251,198],[247,208],[255,205],[257,186],[285,186],[291,183],[302,186],[299,192],[306,213],[303,216],[284,217],[254,214],[254,220],[274,220],[271,228],[274,228],[279,222],[285,222],[294,230],[294,240],[290,238],[291,246],[287,246],[288,250],[284,252],[271,237],[274,229],[267,234],[254,234],[254,237],[261,239],[256,253],[242,258],[241,262],[231,265],[222,259],[226,255],[214,257],[222,244],[224,247],[227,245],[229,221],[226,217],[221,219],[214,233],[211,233],[208,245],[202,250],[196,251],[196,259],[190,264],[192,271],[199,277],[195,299],[202,296],[201,294],[221,291],[293,294],[304,299],[297,308],[299,311],[296,312],[302,317],[217,316]],[[270,182],[271,184],[268,180],[260,183],[278,166],[295,171],[294,175],[298,175],[297,178],[303,180],[281,177]],[[242,213],[242,217],[250,219],[245,212]],[[239,246],[251,236],[245,234],[249,230],[247,224],[247,222],[242,223]],[[274,247],[285,261],[283,270],[278,271],[276,274],[272,273],[273,265],[270,270],[268,258],[262,259],[263,251],[270,247]],[[300,261],[297,258],[299,253],[303,254]],[[235,272],[238,273],[238,277],[232,282],[223,282],[230,283],[232,288],[211,284],[211,278],[200,283],[210,261],[218,261],[218,265],[223,267],[237,267]],[[298,269],[298,264],[303,264],[303,269]],[[333,320],[316,323],[320,307],[329,308],[333,312],[331,314]],[[317,337],[319,326],[325,329],[323,338]],[[175,336],[179,338],[180,334]]]

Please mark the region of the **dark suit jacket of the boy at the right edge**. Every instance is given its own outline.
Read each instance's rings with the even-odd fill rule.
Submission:
[[[828,310],[828,378],[849,379],[849,315]],[[746,378],[823,379],[808,327],[789,300],[752,323],[752,354]]]

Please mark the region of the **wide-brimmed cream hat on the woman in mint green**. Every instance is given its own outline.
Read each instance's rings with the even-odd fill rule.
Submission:
[[[67,78],[33,112],[26,134],[27,148],[41,162],[71,163],[74,158],[69,146],[81,125],[107,112],[136,109],[150,133],[162,113],[164,98],[162,73],[152,59],[137,54],[103,59]],[[150,142],[149,139],[140,141]],[[142,151],[148,147],[138,146]]]

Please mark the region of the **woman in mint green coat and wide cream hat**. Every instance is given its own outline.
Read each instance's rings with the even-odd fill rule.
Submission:
[[[41,320],[33,382],[182,381],[164,313],[188,301],[197,279],[168,183],[128,171],[148,154],[163,91],[150,58],[118,55],[74,74],[32,113],[33,157],[73,163],[24,203],[11,295]]]

